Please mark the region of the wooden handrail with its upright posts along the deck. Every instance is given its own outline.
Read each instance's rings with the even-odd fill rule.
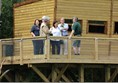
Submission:
[[[1,39],[0,40],[0,54],[2,55],[2,44],[3,42],[14,42],[14,41],[19,41],[19,51],[20,51],[20,64],[23,64],[23,57],[25,56],[23,53],[23,45],[24,45],[24,41],[28,41],[28,40],[45,40],[45,44],[46,44],[46,54],[45,57],[46,59],[50,59],[51,55],[50,55],[50,40],[51,39],[60,39],[60,40],[67,40],[68,41],[68,56],[67,59],[72,59],[72,49],[70,49],[72,47],[72,40],[76,40],[76,39],[80,39],[80,40],[92,40],[94,41],[94,43],[92,44],[94,46],[94,50],[92,51],[92,54],[94,55],[94,59],[97,61],[99,60],[99,49],[98,49],[98,45],[99,45],[99,40],[107,40],[107,41],[111,41],[111,40],[118,40],[118,38],[97,38],[97,37],[72,37],[71,39],[68,39],[68,36],[66,37],[54,37],[54,36],[48,36],[48,37],[25,37],[25,38],[13,38],[13,39]],[[17,44],[18,45],[18,44]],[[27,48],[27,47],[26,47]],[[88,51],[88,50],[87,50]],[[2,61],[2,56],[1,59]]]

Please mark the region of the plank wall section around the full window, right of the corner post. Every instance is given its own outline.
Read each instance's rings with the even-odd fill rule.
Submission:
[[[111,0],[57,0],[56,18],[77,16],[83,21],[83,36],[109,37],[110,9]],[[86,34],[88,20],[107,21],[107,34]]]

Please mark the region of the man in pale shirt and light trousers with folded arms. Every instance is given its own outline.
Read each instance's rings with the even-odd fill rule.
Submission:
[[[68,36],[68,24],[65,23],[65,20],[64,18],[62,17],[60,19],[60,24],[58,25],[58,27],[60,28],[61,30],[61,33],[62,33],[62,36]],[[63,50],[64,50],[64,55],[67,55],[68,54],[68,42],[67,40],[62,40],[63,42],[63,46],[64,46],[64,49],[63,47],[61,46],[61,51],[60,51],[60,54],[62,55],[63,54]]]

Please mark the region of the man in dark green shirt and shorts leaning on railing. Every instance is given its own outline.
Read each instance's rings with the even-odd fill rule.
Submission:
[[[69,36],[69,39],[71,39],[72,35],[81,36],[81,32],[82,32],[82,29],[81,29],[80,23],[78,22],[78,18],[73,17],[72,32]],[[75,55],[80,55],[80,42],[81,42],[80,40],[75,40],[73,42],[73,50],[74,50]]]

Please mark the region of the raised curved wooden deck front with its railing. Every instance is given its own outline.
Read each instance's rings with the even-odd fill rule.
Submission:
[[[50,39],[68,40],[68,55],[52,55]],[[45,40],[44,55],[34,55],[32,40]],[[73,40],[81,40],[81,54],[74,55]],[[13,55],[7,56],[5,45],[13,45]],[[118,39],[93,37],[36,37],[0,40],[0,61],[3,65],[37,63],[118,64]]]

